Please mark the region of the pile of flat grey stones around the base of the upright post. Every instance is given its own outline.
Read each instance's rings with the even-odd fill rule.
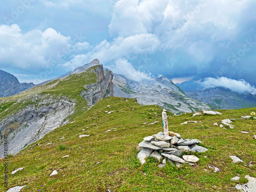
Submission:
[[[159,162],[159,167],[166,165],[166,160],[172,165],[180,167],[183,163],[194,165],[199,160],[195,155],[183,155],[183,152],[206,152],[208,149],[197,145],[201,143],[198,139],[182,139],[180,134],[169,132],[164,135],[159,132],[157,135],[145,137],[139,143],[137,158],[141,164],[146,162],[147,157],[154,157]],[[182,156],[182,157],[181,157]]]

